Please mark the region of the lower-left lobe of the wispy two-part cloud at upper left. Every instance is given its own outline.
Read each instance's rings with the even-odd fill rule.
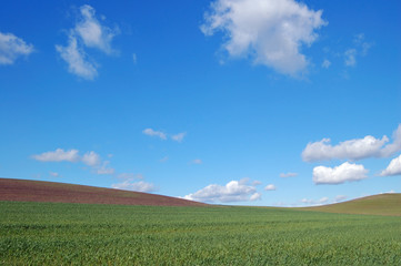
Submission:
[[[77,38],[70,33],[68,45],[56,45],[60,57],[68,63],[68,71],[87,80],[93,80],[98,75],[94,63],[87,60],[87,54],[82,47],[78,47]]]

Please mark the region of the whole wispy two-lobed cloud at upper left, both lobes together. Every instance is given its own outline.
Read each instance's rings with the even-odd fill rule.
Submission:
[[[86,48],[94,48],[107,54],[113,53],[111,41],[119,30],[103,25],[90,6],[84,4],[79,10],[80,18],[76,27],[69,30],[68,44],[56,45],[56,50],[68,63],[70,73],[93,80],[98,75],[98,64],[89,59]]]

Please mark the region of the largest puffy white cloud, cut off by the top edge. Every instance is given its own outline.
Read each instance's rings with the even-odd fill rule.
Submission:
[[[313,11],[294,0],[215,0],[204,14],[205,35],[225,34],[222,48],[233,58],[251,57],[257,64],[295,74],[308,60],[300,52],[318,38],[325,25],[322,11]]]

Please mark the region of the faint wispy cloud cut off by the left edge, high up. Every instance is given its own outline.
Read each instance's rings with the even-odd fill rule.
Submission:
[[[0,32],[0,64],[13,64],[19,57],[28,57],[33,45],[12,33]]]

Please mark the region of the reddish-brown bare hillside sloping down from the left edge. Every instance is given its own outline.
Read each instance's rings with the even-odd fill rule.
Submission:
[[[0,178],[0,201],[207,206],[203,203],[141,192],[11,178]]]

